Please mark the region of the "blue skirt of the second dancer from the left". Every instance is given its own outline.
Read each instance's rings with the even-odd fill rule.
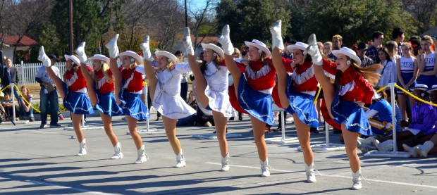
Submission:
[[[123,115],[123,110],[117,104],[116,96],[113,95],[113,92],[109,92],[107,94],[100,94],[97,92],[97,104],[95,107],[105,115]]]

